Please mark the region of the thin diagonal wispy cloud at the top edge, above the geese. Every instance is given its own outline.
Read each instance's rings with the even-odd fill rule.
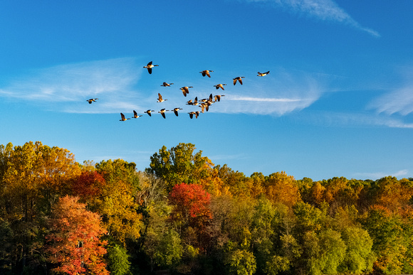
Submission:
[[[366,28],[353,19],[344,9],[332,0],[247,0],[250,2],[270,3],[280,6],[287,11],[313,16],[323,21],[344,23],[360,31],[365,31],[372,36],[380,37],[380,33]]]

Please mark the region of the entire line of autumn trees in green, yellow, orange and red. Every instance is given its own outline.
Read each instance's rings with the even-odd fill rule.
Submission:
[[[295,180],[0,146],[0,274],[413,274],[413,178]]]

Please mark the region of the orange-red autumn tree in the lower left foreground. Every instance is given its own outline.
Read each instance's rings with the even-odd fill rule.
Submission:
[[[105,269],[106,254],[100,237],[106,234],[100,216],[85,210],[78,198],[66,196],[53,207],[49,222],[51,233],[46,236],[48,260],[56,264],[52,269],[65,274],[109,274]]]

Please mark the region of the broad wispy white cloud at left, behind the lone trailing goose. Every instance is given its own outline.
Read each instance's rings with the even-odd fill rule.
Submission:
[[[58,65],[31,72],[0,87],[0,97],[34,102],[60,112],[110,113],[135,107],[132,92],[142,70],[133,58]],[[85,100],[105,100],[90,108]]]

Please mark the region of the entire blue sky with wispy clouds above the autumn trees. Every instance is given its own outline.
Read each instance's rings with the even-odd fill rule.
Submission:
[[[410,0],[0,1],[0,144],[143,171],[191,143],[246,176],[411,178],[412,14]],[[211,93],[225,97],[190,119]]]

